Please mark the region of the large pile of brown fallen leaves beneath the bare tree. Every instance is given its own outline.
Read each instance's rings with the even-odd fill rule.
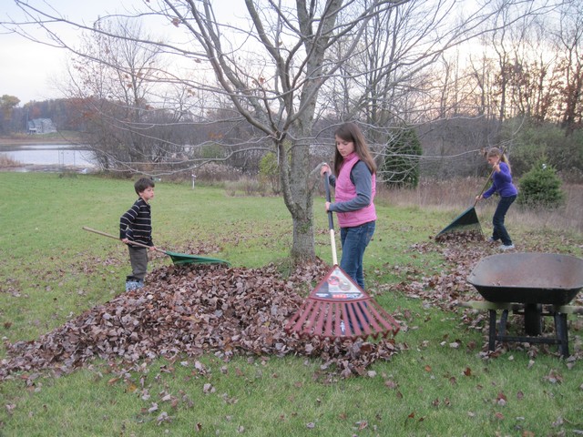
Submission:
[[[0,379],[15,371],[68,373],[96,357],[135,363],[205,352],[225,361],[236,353],[317,356],[323,370],[363,374],[373,361],[391,358],[392,340],[301,339],[284,329],[305,299],[297,290],[306,290],[326,269],[322,262],[304,265],[287,279],[274,266],[157,269],[140,290],[87,310],[38,340],[6,344]]]

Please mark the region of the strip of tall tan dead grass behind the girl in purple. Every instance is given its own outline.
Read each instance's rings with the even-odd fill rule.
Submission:
[[[455,180],[424,179],[419,187],[410,189],[380,188],[377,197],[398,207],[417,206],[438,211],[463,212],[476,201],[476,196],[484,188],[484,179],[461,178]],[[583,233],[583,186],[581,184],[563,184],[566,204],[555,209],[533,209],[513,206],[508,211],[508,219],[525,228],[555,229]],[[489,222],[496,208],[496,200],[482,200],[476,206],[480,219]]]

